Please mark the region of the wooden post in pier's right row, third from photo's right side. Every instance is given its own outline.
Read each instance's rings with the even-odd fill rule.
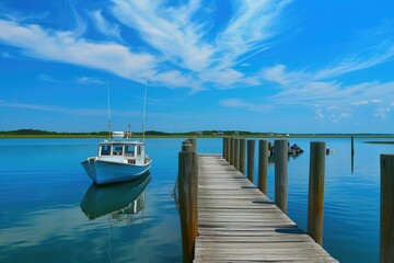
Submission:
[[[275,203],[287,214],[288,191],[288,144],[286,139],[275,140]]]

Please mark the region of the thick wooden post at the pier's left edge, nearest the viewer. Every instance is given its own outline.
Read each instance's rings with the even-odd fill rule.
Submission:
[[[178,203],[182,229],[183,262],[193,262],[198,235],[198,153],[189,141],[178,153]]]

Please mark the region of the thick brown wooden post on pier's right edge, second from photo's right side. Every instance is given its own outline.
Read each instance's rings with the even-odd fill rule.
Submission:
[[[323,242],[325,152],[325,142],[311,142],[308,233],[318,244]]]

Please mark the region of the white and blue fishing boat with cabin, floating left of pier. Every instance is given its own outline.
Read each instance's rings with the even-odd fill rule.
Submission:
[[[125,133],[114,132],[113,140],[99,145],[99,155],[81,164],[97,185],[126,182],[149,171],[152,160],[146,155],[144,141],[124,139]]]

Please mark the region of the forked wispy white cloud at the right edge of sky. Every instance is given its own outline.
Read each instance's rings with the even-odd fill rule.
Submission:
[[[368,49],[369,50],[369,49]],[[289,70],[285,65],[276,65],[262,70],[262,78],[278,84],[278,93],[271,99],[279,104],[310,104],[339,101],[359,106],[381,103],[383,99],[394,98],[393,82],[361,82],[344,84],[338,78],[358,70],[374,67],[394,58],[394,45],[384,42],[373,47],[374,53],[351,56],[339,60],[332,67],[315,70]]]

